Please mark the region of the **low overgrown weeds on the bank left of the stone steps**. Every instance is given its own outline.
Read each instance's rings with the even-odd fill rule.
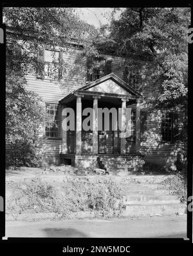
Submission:
[[[118,217],[124,210],[122,189],[110,178],[65,178],[62,182],[46,182],[35,178],[30,182],[11,182],[6,213],[55,212],[70,217],[79,211],[94,211],[95,217]]]

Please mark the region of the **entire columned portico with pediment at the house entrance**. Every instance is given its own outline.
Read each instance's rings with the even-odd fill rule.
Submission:
[[[62,109],[68,107],[75,112],[75,131],[62,129],[61,157],[77,165],[76,158],[139,155],[141,98],[111,73],[60,100]],[[93,116],[88,122],[90,129],[85,129],[88,110],[93,111]],[[62,116],[65,120],[66,116]]]

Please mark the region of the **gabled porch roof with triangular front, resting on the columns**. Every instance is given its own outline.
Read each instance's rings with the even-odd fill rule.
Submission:
[[[84,87],[77,89],[64,98],[60,99],[60,103],[68,103],[75,100],[77,95],[100,96],[104,98],[126,98],[137,100],[142,98],[142,95],[130,87],[125,81],[111,73],[98,80],[88,83]]]

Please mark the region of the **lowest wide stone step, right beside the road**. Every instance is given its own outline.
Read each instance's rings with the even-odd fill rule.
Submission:
[[[152,215],[185,214],[186,206],[183,204],[131,204],[125,206],[123,217],[145,217]]]

